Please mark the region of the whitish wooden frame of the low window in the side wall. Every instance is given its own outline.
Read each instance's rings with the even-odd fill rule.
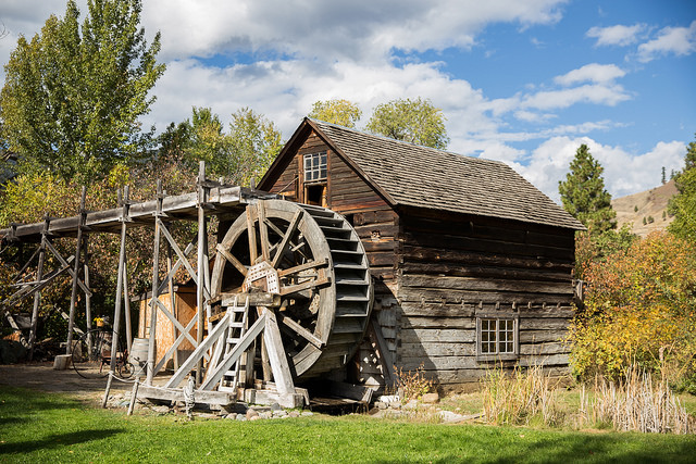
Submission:
[[[512,327],[501,330],[500,323],[511,323]],[[495,324],[495,328],[490,324]],[[490,337],[495,334],[494,337]],[[505,337],[501,337],[504,335]],[[509,337],[512,340],[508,340]],[[495,338],[495,339],[493,339]],[[502,340],[502,338],[505,340]],[[493,340],[492,340],[493,339]],[[505,351],[501,344],[505,343]],[[486,349],[484,349],[486,347]],[[493,350],[490,348],[494,348]],[[510,350],[511,351],[508,351]],[[478,314],[476,315],[476,359],[480,361],[517,360],[520,356],[520,317],[518,314]]]

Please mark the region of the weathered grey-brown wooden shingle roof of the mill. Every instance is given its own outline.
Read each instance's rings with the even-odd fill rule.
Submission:
[[[507,164],[304,120],[393,205],[585,227]]]

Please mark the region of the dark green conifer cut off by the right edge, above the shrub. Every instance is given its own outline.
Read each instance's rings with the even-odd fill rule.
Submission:
[[[696,243],[696,142],[688,143],[684,171],[674,176],[678,193],[670,200],[668,212],[674,216],[670,231]]]

